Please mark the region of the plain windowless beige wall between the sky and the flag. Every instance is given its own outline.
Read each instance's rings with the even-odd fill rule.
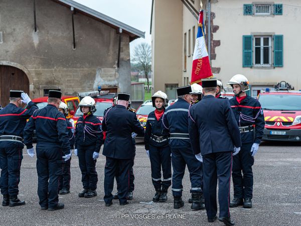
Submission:
[[[152,23],[154,91],[165,84],[182,84],[183,4],[174,0],[155,0]]]

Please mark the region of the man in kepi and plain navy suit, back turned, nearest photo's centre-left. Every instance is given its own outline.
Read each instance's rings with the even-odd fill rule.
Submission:
[[[104,168],[104,201],[112,204],[114,177],[119,183],[118,198],[120,205],[128,204],[126,194],[129,189],[129,170],[133,159],[132,132],[144,135],[144,129],[136,114],[127,110],[129,94],[118,93],[117,105],[110,108],[103,118],[102,130],[106,139],[102,154],[106,157]]]

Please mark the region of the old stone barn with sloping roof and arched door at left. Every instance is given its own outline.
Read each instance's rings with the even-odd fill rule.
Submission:
[[[129,42],[144,32],[71,0],[0,0],[0,96],[130,92]]]

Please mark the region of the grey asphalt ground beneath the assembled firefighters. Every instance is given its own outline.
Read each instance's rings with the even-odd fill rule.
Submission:
[[[30,158],[24,149],[19,197],[26,205],[0,206],[0,225],[224,225],[208,223],[205,210],[193,211],[188,203],[190,181],[186,168],[181,209],[173,208],[171,189],[168,201],[153,203],[155,193],[150,176],[150,163],[143,143],[136,145],[134,165],[135,190],[130,204],[120,206],[118,200],[106,207],[103,196],[104,156],[97,160],[97,196],[79,198],[82,191],[77,156],[71,161],[71,193],[60,195],[65,208],[40,210],[37,195],[36,156]],[[253,166],[253,208],[231,208],[236,225],[301,225],[301,148],[299,144],[262,143]],[[116,186],[114,186],[114,191]],[[231,199],[233,187],[231,185]],[[2,197],[0,198],[2,202]]]

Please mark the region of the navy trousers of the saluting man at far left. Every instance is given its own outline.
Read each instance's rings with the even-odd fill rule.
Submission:
[[[0,188],[3,195],[18,195],[20,182],[20,169],[23,159],[21,147],[0,148]]]

